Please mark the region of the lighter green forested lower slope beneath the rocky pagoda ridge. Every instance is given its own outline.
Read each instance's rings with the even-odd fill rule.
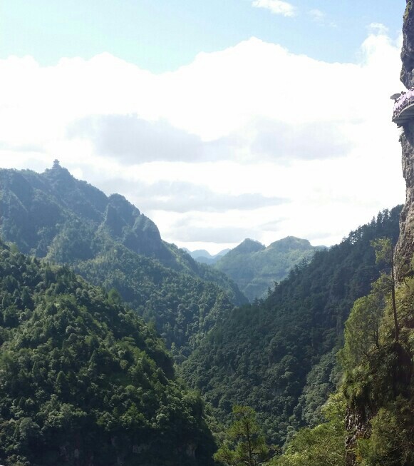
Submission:
[[[78,263],[75,269],[105,289],[118,290],[131,308],[154,322],[177,362],[234,308],[214,283],[178,273],[122,245]]]

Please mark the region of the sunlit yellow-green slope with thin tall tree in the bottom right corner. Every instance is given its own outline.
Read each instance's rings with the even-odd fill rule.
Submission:
[[[396,283],[388,238],[373,246],[383,270],[346,321],[343,378],[324,422],[299,430],[273,466],[414,464],[413,270]]]

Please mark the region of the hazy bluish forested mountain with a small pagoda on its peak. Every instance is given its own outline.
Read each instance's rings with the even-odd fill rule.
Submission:
[[[177,358],[219,315],[247,302],[226,275],[162,241],[155,223],[123,196],[105,196],[58,161],[44,173],[0,170],[0,216],[1,237],[22,252],[117,288]]]

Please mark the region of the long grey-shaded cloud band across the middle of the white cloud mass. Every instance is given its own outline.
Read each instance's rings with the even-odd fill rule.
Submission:
[[[125,165],[152,161],[200,163],[226,160],[252,161],[258,156],[280,163],[300,159],[345,156],[353,147],[336,122],[289,125],[270,118],[254,118],[244,128],[214,141],[175,128],[168,121],[147,121],[136,115],[91,116],[68,127],[69,138],[93,144],[100,156]]]

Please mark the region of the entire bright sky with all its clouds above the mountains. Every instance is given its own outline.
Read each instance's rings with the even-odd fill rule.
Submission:
[[[0,167],[61,166],[162,238],[332,245],[405,201],[404,0],[2,0]]]

